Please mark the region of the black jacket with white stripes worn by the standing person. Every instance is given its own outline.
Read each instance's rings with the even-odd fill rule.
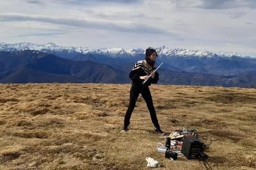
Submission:
[[[154,66],[151,70],[149,70],[145,66],[146,60],[139,60],[135,63],[135,65],[132,68],[132,71],[129,73],[129,77],[132,80],[133,86],[150,86],[151,83],[157,83],[159,80],[159,74],[156,71],[154,79],[152,77],[149,77],[148,81],[145,82],[145,84],[142,84],[144,80],[140,79],[140,76],[149,75],[153,70],[156,69]]]

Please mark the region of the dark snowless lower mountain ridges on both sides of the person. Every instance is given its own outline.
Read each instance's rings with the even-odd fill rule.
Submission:
[[[74,61],[35,50],[0,52],[0,82],[130,83],[130,66],[119,69],[94,61]],[[131,65],[132,68],[132,65]],[[158,84],[256,87],[256,70],[239,75],[173,71],[160,68]]]

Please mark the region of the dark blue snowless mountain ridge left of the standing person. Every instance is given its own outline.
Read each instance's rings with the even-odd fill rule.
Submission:
[[[8,54],[4,56],[3,54]],[[31,55],[28,55],[31,54]],[[32,54],[37,54],[38,58]],[[8,61],[16,62],[10,65]],[[24,61],[22,60],[24,59]],[[73,61],[33,50],[0,52],[0,82],[126,82],[124,72],[94,61]],[[5,64],[5,65],[4,65]]]

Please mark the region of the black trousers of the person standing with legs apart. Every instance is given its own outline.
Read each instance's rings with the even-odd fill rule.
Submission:
[[[153,125],[157,128],[160,128],[159,124],[158,124],[158,120],[157,120],[157,114],[155,112],[155,107],[153,105],[153,100],[152,100],[151,93],[149,91],[148,86],[141,86],[141,87],[131,86],[130,102],[129,102],[129,106],[126,111],[126,114],[124,116],[124,127],[128,127],[128,125],[130,125],[130,118],[132,116],[132,112],[135,107],[135,103],[137,102],[137,98],[139,97],[139,93],[141,93],[142,97],[144,98],[144,100],[147,104]]]

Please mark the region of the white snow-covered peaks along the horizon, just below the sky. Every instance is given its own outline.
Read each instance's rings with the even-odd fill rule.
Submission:
[[[238,56],[241,58],[255,58],[253,56],[239,55],[235,52],[211,52],[206,50],[189,50],[189,49],[171,49],[166,46],[155,48],[158,52],[158,56],[197,56],[197,57],[222,57],[228,58],[231,56]],[[118,56],[136,56],[137,54],[144,54],[144,49],[123,49],[123,48],[101,48],[101,49],[91,49],[89,47],[73,47],[73,46],[62,46],[56,45],[55,43],[0,43],[0,51],[17,51],[17,50],[39,50],[45,52],[47,50],[51,51],[62,51],[67,52],[80,52],[82,54],[107,54],[108,56],[118,57]]]

